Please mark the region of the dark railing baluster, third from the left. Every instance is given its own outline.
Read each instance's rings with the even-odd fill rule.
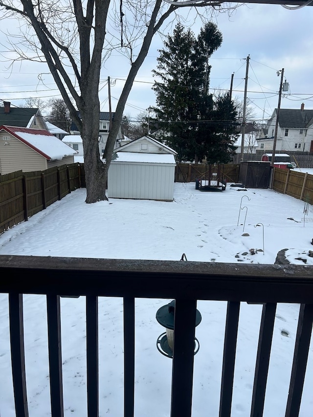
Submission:
[[[88,416],[99,416],[98,297],[86,297],[87,408]]]

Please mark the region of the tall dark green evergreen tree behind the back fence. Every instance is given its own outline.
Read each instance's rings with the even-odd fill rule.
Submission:
[[[153,73],[161,81],[153,87],[154,111],[165,142],[178,152],[179,160],[198,162],[205,156],[214,162],[230,159],[227,143],[231,145],[234,126],[229,120],[235,120],[234,106],[229,95],[228,102],[226,96],[215,102],[208,92],[209,58],[221,43],[222,34],[212,22],[201,29],[197,38],[178,24],[159,50]]]

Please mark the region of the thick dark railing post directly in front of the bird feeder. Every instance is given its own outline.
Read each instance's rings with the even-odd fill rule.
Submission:
[[[171,417],[191,416],[196,308],[196,300],[175,302]]]

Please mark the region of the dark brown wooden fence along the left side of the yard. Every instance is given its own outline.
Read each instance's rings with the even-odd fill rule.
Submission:
[[[85,185],[80,164],[0,175],[0,233]]]

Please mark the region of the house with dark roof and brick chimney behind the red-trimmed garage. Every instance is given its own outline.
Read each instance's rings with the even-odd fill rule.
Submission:
[[[9,101],[3,101],[3,104],[4,107],[0,107],[0,126],[47,129],[45,120],[38,108],[11,107]]]

